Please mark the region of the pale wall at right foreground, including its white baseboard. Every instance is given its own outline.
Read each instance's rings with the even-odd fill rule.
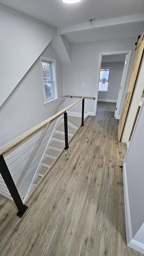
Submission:
[[[124,160],[127,243],[144,253],[144,102]],[[139,231],[139,232],[138,232]],[[137,240],[136,240],[137,239]],[[133,241],[134,240],[134,241]],[[136,241],[136,242],[135,242]],[[134,247],[137,245],[137,247]],[[143,250],[142,250],[143,248]]]

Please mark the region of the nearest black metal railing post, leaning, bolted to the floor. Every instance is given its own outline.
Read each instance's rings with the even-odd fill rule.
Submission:
[[[16,204],[16,207],[18,208],[17,216],[19,216],[21,218],[23,216],[23,214],[25,213],[25,211],[27,210],[28,206],[24,205],[20,198],[20,195],[18,193],[16,185],[14,184],[14,181],[12,179],[12,176],[7,167],[7,164],[4,160],[3,155],[0,155],[0,173],[1,173],[1,176],[3,177],[3,180],[6,184],[15,204]]]

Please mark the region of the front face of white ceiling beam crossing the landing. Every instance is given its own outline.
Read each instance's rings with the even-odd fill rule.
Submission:
[[[144,20],[143,14],[135,14],[135,15],[123,16],[123,17],[118,17],[113,19],[95,21],[93,22],[92,25],[90,24],[90,22],[87,22],[83,24],[57,28],[57,35],[71,34],[79,31],[86,31],[91,29],[109,28],[109,27],[119,26],[119,25],[136,24],[136,23],[143,22],[143,20]]]

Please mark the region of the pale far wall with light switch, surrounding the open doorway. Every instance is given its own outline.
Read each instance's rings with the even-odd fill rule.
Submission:
[[[127,85],[135,53],[136,41],[137,37],[131,37],[118,40],[72,44],[72,63],[62,64],[64,94],[97,96],[96,80],[98,76],[99,52],[105,51],[132,49],[128,77],[126,80]],[[82,83],[85,83],[85,87],[82,87]],[[85,111],[86,113],[87,111],[94,112],[94,101],[89,101],[89,103],[85,104]]]

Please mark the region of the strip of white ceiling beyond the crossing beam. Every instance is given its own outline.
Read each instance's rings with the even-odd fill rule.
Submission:
[[[90,29],[65,35],[71,43],[113,40],[127,37],[138,37],[143,29],[143,22],[120,25],[109,28]]]

